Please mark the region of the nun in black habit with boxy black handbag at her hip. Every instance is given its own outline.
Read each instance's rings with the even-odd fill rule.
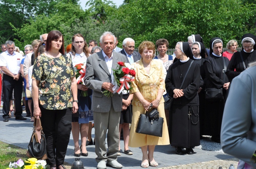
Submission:
[[[217,101],[205,100],[205,123],[206,135],[211,135],[212,140],[220,143],[221,123],[224,111],[224,99],[229,87],[229,80],[225,74],[224,61],[226,66],[229,63],[227,57],[222,56],[223,40],[215,37],[210,40],[210,56],[204,61],[206,76],[206,89],[221,89],[223,98]]]

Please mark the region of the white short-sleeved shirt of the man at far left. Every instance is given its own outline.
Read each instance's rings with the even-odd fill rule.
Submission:
[[[22,54],[18,52],[13,52],[13,55],[11,55],[8,51],[5,51],[0,55],[0,66],[6,67],[12,74],[16,75],[19,73],[22,59]]]

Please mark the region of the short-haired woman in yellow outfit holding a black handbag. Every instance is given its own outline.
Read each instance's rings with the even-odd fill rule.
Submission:
[[[139,46],[139,53],[142,58],[133,63],[136,72],[135,80],[131,83],[132,100],[132,124],[130,131],[129,146],[141,147],[142,163],[141,167],[147,168],[149,165],[156,167],[158,163],[154,159],[155,145],[169,145],[169,134],[166,124],[164,99],[165,75],[162,63],[153,60],[155,45],[150,41],[143,41]],[[162,137],[136,133],[136,128],[140,114],[150,111],[150,105],[156,108],[159,116],[164,118]],[[148,149],[148,152],[147,152]]]

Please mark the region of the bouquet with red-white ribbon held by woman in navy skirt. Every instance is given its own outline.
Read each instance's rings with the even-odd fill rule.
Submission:
[[[86,63],[80,63],[75,65],[75,78],[77,84],[84,84],[84,77],[85,77],[85,67]],[[82,91],[80,96],[86,97],[88,95],[87,91]]]

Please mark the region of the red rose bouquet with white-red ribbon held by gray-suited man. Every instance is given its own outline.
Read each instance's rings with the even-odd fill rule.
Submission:
[[[117,62],[118,66],[113,69],[113,74],[111,75],[113,87],[113,93],[120,94],[123,90],[131,90],[131,81],[134,81],[136,72],[130,63]],[[112,93],[105,90],[104,96],[110,97]]]

